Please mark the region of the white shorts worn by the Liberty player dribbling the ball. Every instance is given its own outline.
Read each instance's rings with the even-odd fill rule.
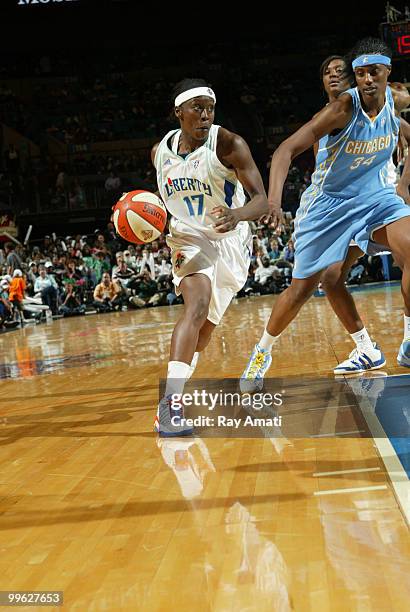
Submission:
[[[210,240],[183,221],[173,218],[167,244],[171,249],[172,274],[176,294],[185,276],[205,274],[211,281],[212,293],[208,320],[220,323],[232,298],[248,278],[252,255],[252,234],[249,223],[241,222],[234,235]]]

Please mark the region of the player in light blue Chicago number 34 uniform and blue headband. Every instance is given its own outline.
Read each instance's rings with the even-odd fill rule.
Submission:
[[[365,252],[380,246],[403,264],[402,295],[405,332],[398,362],[410,367],[410,158],[394,187],[387,165],[397,145],[400,119],[388,87],[391,52],[380,40],[365,39],[352,53],[357,87],[323,108],[285,140],[272,158],[269,204],[276,219],[281,211],[283,184],[292,159],[320,141],[312,184],[304,192],[295,220],[295,266],[291,286],[278,298],[261,340],[241,378],[243,391],[259,390],[271,362],[271,349],[298,314],[324,269],[343,262],[351,240]],[[410,135],[403,133],[410,142]],[[351,371],[360,364],[382,367],[377,347],[357,349]]]

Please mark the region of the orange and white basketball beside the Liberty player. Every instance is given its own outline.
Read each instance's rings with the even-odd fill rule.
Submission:
[[[162,201],[150,191],[123,193],[113,206],[112,221],[117,233],[127,242],[145,244],[162,234],[167,211]]]

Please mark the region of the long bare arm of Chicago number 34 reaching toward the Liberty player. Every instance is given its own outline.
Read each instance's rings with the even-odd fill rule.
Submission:
[[[342,94],[279,145],[272,156],[269,174],[268,202],[273,220],[281,215],[283,185],[292,160],[326,134],[343,129],[351,117],[352,99],[350,95]]]

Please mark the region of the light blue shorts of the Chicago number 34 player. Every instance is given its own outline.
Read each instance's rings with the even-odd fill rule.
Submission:
[[[392,187],[354,198],[334,198],[311,185],[303,194],[295,219],[294,278],[308,278],[344,261],[351,240],[369,255],[386,251],[372,233],[410,217],[410,206]]]

